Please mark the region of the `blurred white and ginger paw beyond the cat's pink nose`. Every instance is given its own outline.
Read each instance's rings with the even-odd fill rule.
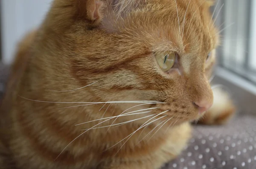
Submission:
[[[225,124],[235,115],[236,106],[228,92],[221,87],[215,87],[212,91],[213,105],[198,122],[206,125]]]

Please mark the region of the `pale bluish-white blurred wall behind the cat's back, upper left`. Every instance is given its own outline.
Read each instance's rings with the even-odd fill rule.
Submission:
[[[52,0],[1,0],[3,63],[12,63],[17,42],[44,18]]]

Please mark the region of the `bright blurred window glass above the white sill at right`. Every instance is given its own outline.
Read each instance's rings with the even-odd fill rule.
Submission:
[[[256,1],[219,0],[215,7],[219,65],[256,82]]]

